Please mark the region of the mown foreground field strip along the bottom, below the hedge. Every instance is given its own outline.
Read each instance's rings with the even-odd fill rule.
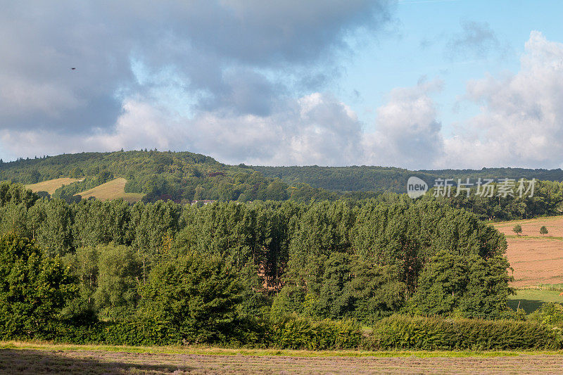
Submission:
[[[563,352],[305,352],[0,343],[9,374],[561,374]]]

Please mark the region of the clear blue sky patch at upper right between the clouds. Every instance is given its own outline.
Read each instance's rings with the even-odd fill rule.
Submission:
[[[346,59],[346,75],[335,85],[367,124],[374,121],[373,109],[384,104],[385,94],[394,87],[439,77],[443,91],[433,98],[448,133],[451,124],[478,110],[472,103],[455,110],[467,81],[487,73],[517,72],[531,30],[563,42],[562,1],[405,0],[398,2],[393,15],[395,20],[384,37],[372,39],[355,51],[353,59]],[[467,46],[465,53],[450,56],[448,42],[467,22],[489,27],[501,50],[491,46],[479,55]],[[359,99],[354,90],[360,93]]]

